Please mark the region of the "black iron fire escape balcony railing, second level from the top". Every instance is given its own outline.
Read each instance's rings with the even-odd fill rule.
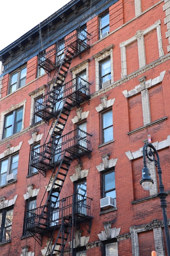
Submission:
[[[60,112],[65,98],[71,100],[71,105],[79,106],[90,99],[90,85],[78,76],[62,86],[55,86],[51,92],[35,101],[35,115],[50,120]]]

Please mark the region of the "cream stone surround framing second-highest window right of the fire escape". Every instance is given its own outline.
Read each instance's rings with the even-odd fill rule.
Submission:
[[[113,48],[114,45],[110,45],[109,47],[107,47],[106,49],[102,50],[102,52],[99,52],[97,54],[95,54],[93,56],[93,58],[95,59],[95,76],[96,76],[96,80],[95,80],[95,86],[96,86],[96,91],[99,90],[100,86],[99,86],[99,62],[104,60],[105,58],[110,56],[110,65],[111,65],[111,83],[114,82],[114,76],[113,76]]]

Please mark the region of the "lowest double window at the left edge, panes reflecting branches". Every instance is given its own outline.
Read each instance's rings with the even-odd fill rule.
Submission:
[[[0,242],[4,243],[11,239],[13,209],[0,211]]]

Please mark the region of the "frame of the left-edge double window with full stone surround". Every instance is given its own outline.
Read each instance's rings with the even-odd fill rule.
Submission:
[[[16,116],[17,116],[17,113],[22,109],[22,120],[19,119],[19,120],[16,120]],[[16,124],[18,123],[21,123],[21,129],[22,129],[22,122],[23,122],[23,115],[24,114],[24,106],[21,106],[20,108],[16,108],[15,110],[13,110],[12,112],[9,112],[7,115],[4,115],[4,127],[3,127],[3,135],[2,135],[2,139],[6,139],[10,136],[12,136],[13,134],[17,133],[17,132],[20,132],[20,131],[16,131]],[[6,126],[6,120],[7,120],[7,117],[9,117],[10,115],[12,115],[12,124],[10,126]],[[5,127],[6,126],[6,127]],[[5,131],[7,128],[11,127],[11,135],[9,136],[6,136],[5,137]],[[20,129],[20,130],[21,130]]]

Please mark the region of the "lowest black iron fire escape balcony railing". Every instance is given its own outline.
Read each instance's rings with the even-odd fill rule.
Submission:
[[[91,198],[75,193],[26,212],[26,230],[43,234],[55,226],[60,228],[62,220],[74,219],[87,222],[91,216]]]

